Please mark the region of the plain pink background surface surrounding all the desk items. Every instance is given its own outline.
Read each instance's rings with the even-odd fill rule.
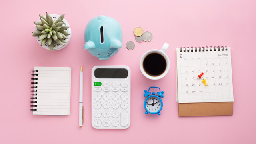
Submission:
[[[254,0],[6,0],[0,9],[0,143],[253,143],[256,135],[256,2]],[[50,53],[31,36],[38,14],[62,14],[72,29],[68,46]],[[100,61],[84,46],[84,28],[99,15],[118,20],[123,46]],[[150,42],[135,41],[133,30],[150,31]],[[134,41],[134,50],[126,42]],[[170,71],[161,80],[140,72],[144,52],[170,44]],[[180,46],[231,47],[233,116],[178,117],[176,49]],[[84,66],[85,121],[78,127],[79,70]],[[127,65],[131,69],[131,125],[126,130],[91,126],[91,69],[95,65]],[[72,68],[70,116],[33,116],[30,70],[34,66]],[[164,93],[161,115],[144,114],[143,90],[159,86]]]

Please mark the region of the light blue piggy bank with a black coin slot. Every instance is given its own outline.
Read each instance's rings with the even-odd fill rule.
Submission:
[[[108,60],[122,47],[122,28],[108,16],[98,16],[88,22],[84,32],[84,49],[100,60]]]

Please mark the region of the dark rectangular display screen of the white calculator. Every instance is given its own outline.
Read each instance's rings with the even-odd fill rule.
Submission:
[[[125,68],[97,68],[94,70],[95,78],[127,78],[128,71]]]

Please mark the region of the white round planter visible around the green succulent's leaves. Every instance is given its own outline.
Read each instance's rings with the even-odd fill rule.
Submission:
[[[58,14],[50,14],[50,16],[53,18],[54,22],[58,19],[58,17],[60,17]],[[41,20],[39,20],[38,22],[41,22]],[[60,50],[64,47],[66,47],[68,45],[68,42],[70,41],[70,38],[71,38],[71,28],[70,28],[70,25],[68,24],[68,21],[66,21],[65,19],[62,20],[62,22],[64,22],[63,25],[65,26],[69,26],[68,29],[66,29],[66,31],[68,33],[70,33],[70,35],[68,35],[68,39],[66,39],[66,44],[64,45],[61,45],[61,44],[58,44],[56,42],[54,42],[54,47],[53,47],[53,50]],[[38,30],[37,28],[35,28],[35,30]],[[36,36],[36,40],[37,42],[41,45],[41,40],[38,40],[39,39],[39,36]],[[48,42],[46,42],[42,47],[44,47],[45,49],[47,50],[50,50],[49,48],[49,45],[48,45]]]

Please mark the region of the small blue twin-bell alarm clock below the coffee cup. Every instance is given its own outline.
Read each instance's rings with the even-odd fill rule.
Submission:
[[[150,113],[150,114],[160,115],[161,114],[160,111],[163,108],[163,101],[161,98],[164,98],[164,91],[161,92],[160,88],[158,88],[159,92],[157,93],[152,92],[152,95],[150,95],[151,94],[151,92],[149,92],[150,88],[158,88],[158,87],[151,86],[149,87],[148,91],[144,90],[145,92],[144,97],[147,96],[144,102],[144,108],[146,110],[145,114]]]

